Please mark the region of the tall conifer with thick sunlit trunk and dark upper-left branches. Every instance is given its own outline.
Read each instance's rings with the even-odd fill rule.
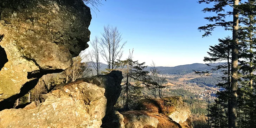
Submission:
[[[231,58],[231,95],[230,95],[230,110],[229,110],[229,128],[236,128],[237,118],[237,89],[238,89],[238,27],[239,27],[239,0],[200,0],[199,4],[213,3],[212,8],[204,8],[203,12],[215,12],[217,15],[213,17],[205,17],[205,19],[213,22],[206,26],[199,27],[200,31],[205,31],[203,37],[211,35],[216,26],[222,26],[225,30],[232,30],[232,58]],[[230,6],[231,11],[225,11],[224,8]],[[226,16],[232,15],[232,21],[226,21]]]

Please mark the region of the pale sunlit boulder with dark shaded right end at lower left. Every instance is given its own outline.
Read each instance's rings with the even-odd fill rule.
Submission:
[[[91,83],[86,82],[88,79]],[[121,80],[122,73],[113,71],[57,85],[51,93],[41,95],[44,102],[38,107],[32,102],[23,109],[0,111],[0,128],[100,128],[106,111],[110,110],[107,102],[112,104],[116,97],[107,92],[119,88]]]

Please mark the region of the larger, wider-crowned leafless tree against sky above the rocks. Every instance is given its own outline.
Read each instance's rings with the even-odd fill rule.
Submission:
[[[101,33],[100,41],[101,55],[108,64],[108,69],[116,68],[114,62],[120,59],[123,55],[123,47],[127,43],[121,43],[122,34],[117,30],[117,27],[110,25],[104,26],[104,32]]]

